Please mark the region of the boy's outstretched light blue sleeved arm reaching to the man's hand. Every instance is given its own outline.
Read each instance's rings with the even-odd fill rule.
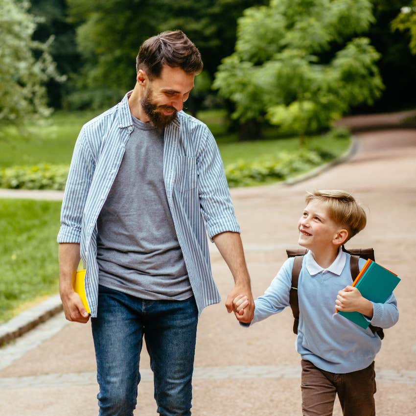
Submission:
[[[293,257],[288,258],[270,283],[263,296],[254,301],[254,318],[251,324],[281,312],[289,306],[289,292],[292,284]],[[237,299],[238,302],[238,299]],[[244,301],[243,301],[244,302]],[[247,326],[247,325],[245,325]]]

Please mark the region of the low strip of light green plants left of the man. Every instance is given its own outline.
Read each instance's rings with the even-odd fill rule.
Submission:
[[[63,190],[68,170],[66,165],[47,164],[6,167],[0,169],[0,187]]]

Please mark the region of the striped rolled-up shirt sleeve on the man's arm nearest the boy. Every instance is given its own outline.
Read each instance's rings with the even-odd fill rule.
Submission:
[[[212,237],[225,231],[240,232],[218,146],[206,127],[202,151],[197,158],[201,212]]]

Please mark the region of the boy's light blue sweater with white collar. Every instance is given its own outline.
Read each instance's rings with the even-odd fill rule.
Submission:
[[[298,283],[300,316],[296,350],[302,359],[334,373],[365,369],[381,347],[380,338],[370,328],[363,329],[335,313],[338,291],[352,283],[349,260],[350,255],[340,250],[335,261],[323,269],[308,252],[303,258]],[[251,324],[289,306],[293,262],[293,257],[288,258],[264,295],[255,300]],[[364,263],[360,259],[360,269]],[[389,328],[398,320],[393,294],[386,303],[373,303],[373,309],[370,323],[374,326]]]

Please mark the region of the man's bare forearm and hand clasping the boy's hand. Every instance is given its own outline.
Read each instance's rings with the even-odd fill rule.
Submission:
[[[254,300],[240,234],[238,232],[226,231],[215,235],[213,240],[230,268],[232,277],[234,277],[234,288],[228,295],[225,303],[227,311],[229,313],[233,311],[232,300],[237,295],[245,295],[248,299],[248,305],[244,308],[244,314],[240,315],[236,312],[235,317],[240,322],[251,322],[254,316]]]

